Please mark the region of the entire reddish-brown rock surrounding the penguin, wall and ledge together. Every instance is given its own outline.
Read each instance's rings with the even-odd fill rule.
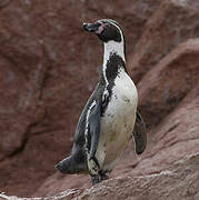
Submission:
[[[0,10],[0,191],[48,199],[199,198],[198,1],[4,0]],[[148,146],[136,157],[129,143],[111,179],[90,188],[88,176],[62,176],[53,166],[70,152],[98,81],[102,49],[81,26],[100,18],[123,26]]]

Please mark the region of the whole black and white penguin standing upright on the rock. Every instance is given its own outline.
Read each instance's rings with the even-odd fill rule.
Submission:
[[[57,169],[63,173],[89,172],[94,184],[108,179],[131,137],[136,152],[143,152],[147,136],[137,111],[137,89],[126,70],[120,26],[105,19],[83,23],[83,29],[103,42],[103,64],[100,81],[79,118],[71,156]]]

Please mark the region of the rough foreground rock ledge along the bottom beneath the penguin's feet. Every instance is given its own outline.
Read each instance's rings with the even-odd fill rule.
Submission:
[[[199,153],[189,154],[169,166],[167,169],[145,176],[120,176],[94,186],[84,191],[66,190],[47,197],[60,200],[197,200],[199,198]],[[167,187],[166,187],[167,186]],[[20,200],[0,193],[0,199]],[[36,198],[30,198],[30,200]],[[29,200],[27,198],[26,200]],[[42,200],[42,198],[37,198]]]

